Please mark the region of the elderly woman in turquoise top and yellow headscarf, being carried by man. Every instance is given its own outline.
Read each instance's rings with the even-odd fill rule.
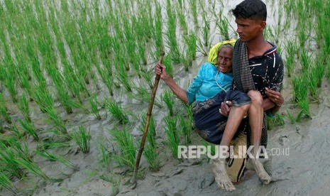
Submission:
[[[231,114],[238,113],[237,116],[243,117],[251,102],[247,94],[229,91],[233,81],[231,66],[235,41],[226,40],[211,48],[208,62],[199,68],[197,76],[194,77],[187,90],[179,87],[167,75],[163,64],[157,62],[155,65],[155,74],[160,75],[160,78],[182,102],[186,104],[196,102],[193,116],[194,127],[199,136],[218,145],[225,128],[237,130],[237,127],[231,127],[229,123],[226,127],[226,122],[231,120],[231,115],[227,117],[221,114],[221,103],[230,101],[233,106]]]

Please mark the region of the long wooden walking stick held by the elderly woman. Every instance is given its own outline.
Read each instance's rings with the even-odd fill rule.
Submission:
[[[160,63],[163,62],[164,55],[165,55],[165,52],[160,53],[160,58],[159,58]],[[156,75],[155,84],[153,85],[153,92],[151,93],[151,97],[150,97],[147,118],[145,119],[145,126],[144,126],[144,131],[143,131],[143,137],[141,140],[141,146],[140,146],[140,149],[138,150],[138,157],[136,158],[136,167],[134,169],[133,178],[131,180],[131,183],[134,183],[132,189],[136,187],[136,175],[138,173],[138,165],[140,164],[140,160],[141,160],[141,156],[142,156],[142,152],[143,152],[143,148],[144,148],[144,144],[145,144],[145,138],[147,137],[148,130],[149,130],[151,111],[153,110],[153,102],[155,101],[155,95],[157,92],[159,80],[160,80],[160,75]]]

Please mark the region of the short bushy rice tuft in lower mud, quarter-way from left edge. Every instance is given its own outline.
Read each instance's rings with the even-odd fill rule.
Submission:
[[[79,126],[79,131],[75,131],[72,134],[73,140],[82,149],[83,153],[89,153],[91,134],[90,130],[84,126]]]

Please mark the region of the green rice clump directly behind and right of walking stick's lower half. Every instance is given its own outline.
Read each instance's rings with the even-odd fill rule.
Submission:
[[[138,126],[138,129],[143,133],[145,129],[145,123],[146,123],[146,113],[143,112],[141,114],[142,123],[140,126]],[[155,121],[153,119],[153,116],[150,118],[150,124],[147,134],[147,143],[145,145],[145,149],[143,151],[143,155],[145,156],[145,159],[147,160],[149,164],[150,170],[157,171],[160,168],[160,163],[158,160],[158,152],[157,152],[157,146],[155,143]]]

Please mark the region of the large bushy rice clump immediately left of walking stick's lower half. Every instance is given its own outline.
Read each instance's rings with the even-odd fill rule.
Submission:
[[[109,131],[114,141],[119,145],[121,154],[114,156],[119,165],[126,166],[129,170],[134,170],[136,161],[136,148],[134,148],[133,136],[128,133],[125,127],[123,130],[114,129]]]

